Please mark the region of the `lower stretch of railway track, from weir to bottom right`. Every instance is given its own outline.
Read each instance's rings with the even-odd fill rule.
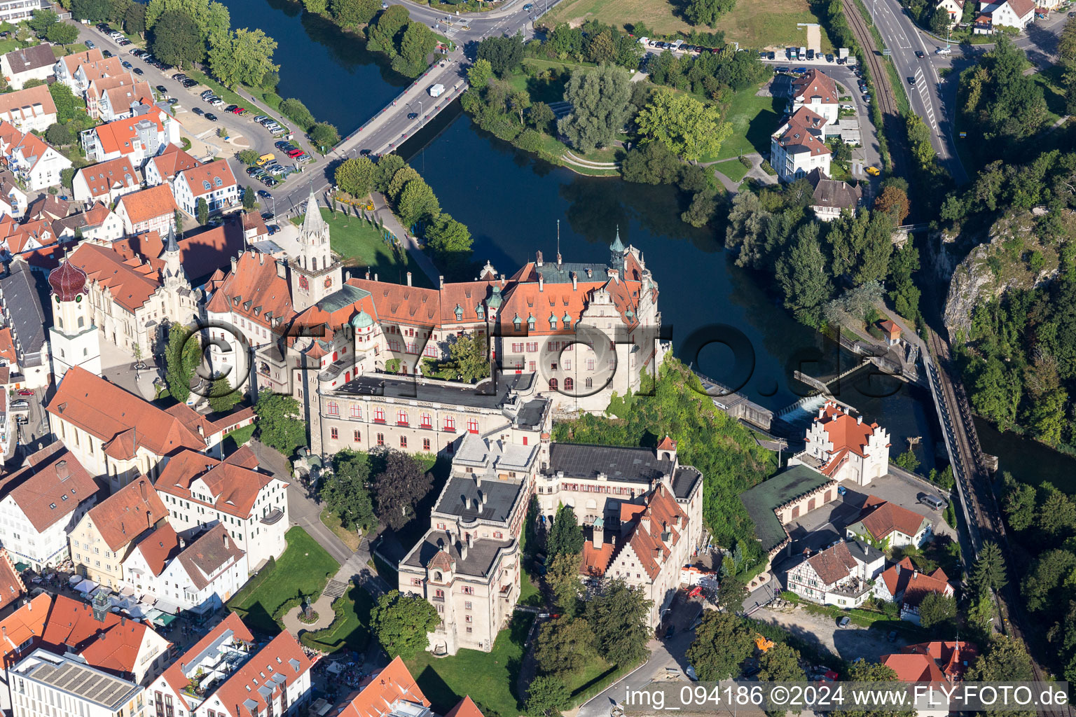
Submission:
[[[946,435],[946,444],[950,449],[953,477],[957,479],[957,492],[964,507],[967,532],[972,536],[973,553],[978,555],[982,544],[993,541],[1001,548],[1007,565],[1015,565],[1009,548],[1008,536],[1002,520],[1001,508],[994,496],[991,479],[986,470],[982,448],[975,431],[972,407],[964,392],[963,384],[954,382],[950,374],[949,345],[933,331],[929,332],[928,349],[930,356],[923,357],[928,379],[935,391],[938,403],[938,414],[942,419],[942,430]],[[1015,580],[996,593],[997,606],[1001,612],[1001,628],[1028,644],[1025,639],[1029,615],[1023,608],[1023,602],[1017,592]],[[1034,656],[1031,658],[1034,679],[1046,682],[1047,673]],[[1070,705],[1052,705],[1042,707],[1039,714],[1047,717],[1071,717]]]

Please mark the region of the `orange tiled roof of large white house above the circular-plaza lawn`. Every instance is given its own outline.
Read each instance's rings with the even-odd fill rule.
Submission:
[[[247,446],[223,461],[194,450],[184,450],[173,456],[160,472],[157,490],[193,503],[213,505],[216,510],[239,518],[249,518],[258,493],[273,481],[273,476],[268,473],[246,468],[251,456],[253,451]],[[212,503],[200,501],[190,494],[190,485],[195,481],[206,484],[213,497]]]

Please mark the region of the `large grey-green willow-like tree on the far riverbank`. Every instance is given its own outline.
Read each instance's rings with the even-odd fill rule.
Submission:
[[[623,68],[604,64],[575,72],[564,90],[571,114],[557,123],[557,129],[584,154],[612,144],[627,121],[631,98],[631,78]]]

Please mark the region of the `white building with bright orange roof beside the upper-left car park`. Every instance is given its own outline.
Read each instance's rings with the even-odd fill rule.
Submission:
[[[81,140],[86,158],[91,161],[127,157],[131,166],[141,169],[169,144],[180,143],[180,125],[159,107],[143,106],[137,107],[131,117],[85,130]]]

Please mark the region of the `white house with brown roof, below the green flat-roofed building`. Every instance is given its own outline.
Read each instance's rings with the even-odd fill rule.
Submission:
[[[840,541],[788,571],[788,589],[822,605],[859,607],[884,570],[881,550],[858,540]]]

